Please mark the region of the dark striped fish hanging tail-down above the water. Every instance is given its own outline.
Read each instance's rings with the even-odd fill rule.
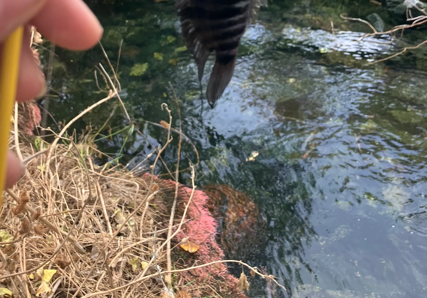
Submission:
[[[193,54],[202,84],[206,61],[215,52],[215,65],[206,97],[211,107],[230,83],[240,39],[267,0],[175,0],[182,36]]]

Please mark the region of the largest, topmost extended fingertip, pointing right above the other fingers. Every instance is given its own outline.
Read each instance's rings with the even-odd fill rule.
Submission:
[[[82,0],[47,0],[31,23],[47,39],[70,50],[95,46],[103,32],[97,17]]]

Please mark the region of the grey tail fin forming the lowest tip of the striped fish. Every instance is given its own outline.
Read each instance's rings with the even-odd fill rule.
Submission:
[[[209,79],[208,88],[206,89],[206,97],[212,108],[215,101],[221,97],[228,83],[230,83],[234,67],[236,66],[236,57],[226,64],[220,63],[218,60],[217,57],[212,69],[211,78]]]

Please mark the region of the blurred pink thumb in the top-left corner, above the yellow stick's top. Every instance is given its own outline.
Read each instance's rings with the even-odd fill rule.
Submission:
[[[0,0],[0,42],[29,22],[44,3],[46,0]]]

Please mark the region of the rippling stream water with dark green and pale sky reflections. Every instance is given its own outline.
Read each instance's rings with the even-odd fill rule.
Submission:
[[[119,67],[124,101],[146,134],[145,139],[135,133],[129,136],[123,161],[137,165],[152,146],[164,143],[164,130],[143,120],[167,120],[162,102],[177,119],[170,81],[180,99],[183,131],[200,154],[197,184],[231,185],[260,206],[266,228],[259,232],[265,241],[255,243],[261,249],[256,257],[241,259],[267,266],[279,277],[287,292],[278,295],[425,294],[423,50],[410,56],[416,64],[404,58],[363,67],[394,53],[395,43],[387,36],[359,42],[366,28],[332,33],[299,27],[278,20],[272,10],[261,14],[263,21],[246,32],[234,77],[222,98],[213,109],[205,101],[202,111],[194,62],[187,52],[175,51],[184,42],[172,6],[147,1],[125,3],[114,14],[106,11],[99,12],[106,32],[103,44],[116,61],[118,41],[124,38]],[[164,54],[162,61],[154,58],[155,52]],[[63,88],[63,93],[51,104],[52,113],[57,119],[69,119],[100,98],[90,81],[91,70],[96,62],[106,64],[99,49],[60,52],[59,57],[54,87]],[[176,66],[171,59],[176,59]],[[136,63],[147,63],[146,74],[129,75]],[[207,69],[211,67],[209,61]],[[100,126],[111,109],[112,105],[94,110],[76,127]],[[112,131],[126,125],[120,113],[110,124]],[[99,142],[99,147],[115,156],[127,131]],[[176,159],[176,139],[175,135],[163,156],[170,168]],[[246,161],[252,152],[259,155]],[[185,157],[196,160],[187,144],[181,159]],[[189,175],[183,174],[181,180],[189,183]],[[263,284],[252,283],[253,296],[267,297],[260,288]]]

